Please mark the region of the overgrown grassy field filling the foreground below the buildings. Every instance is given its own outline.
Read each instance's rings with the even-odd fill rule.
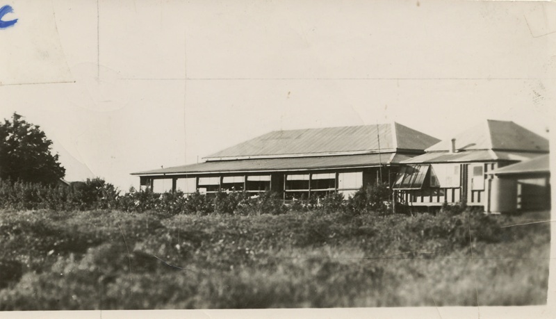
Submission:
[[[548,219],[0,211],[0,309],[546,304]]]

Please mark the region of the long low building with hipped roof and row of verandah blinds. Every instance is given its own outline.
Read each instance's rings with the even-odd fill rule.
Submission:
[[[204,163],[136,172],[140,188],[277,191],[284,199],[342,193],[346,198],[377,181],[389,185],[402,161],[439,142],[398,123],[272,131],[206,156]]]

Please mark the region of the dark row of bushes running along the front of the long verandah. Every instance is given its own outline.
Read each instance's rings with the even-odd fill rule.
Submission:
[[[104,179],[88,179],[72,183],[72,186],[44,186],[36,183],[0,180],[0,208],[15,210],[52,209],[56,211],[90,211],[95,209],[117,209],[120,211],[156,211],[175,215],[178,213],[227,213],[273,215],[286,211],[344,211],[352,215],[364,213],[391,213],[388,200],[389,190],[385,184],[361,188],[347,201],[341,194],[325,197],[311,197],[284,205],[279,193],[261,193],[251,196],[248,193],[217,193],[208,197],[194,193],[185,196],[177,193],[152,193],[136,191],[122,192]]]

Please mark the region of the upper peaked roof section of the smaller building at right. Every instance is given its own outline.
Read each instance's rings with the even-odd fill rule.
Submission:
[[[492,149],[498,151],[548,152],[548,140],[511,121],[486,120],[454,136],[459,151]],[[425,152],[448,152],[452,139],[442,140]]]

